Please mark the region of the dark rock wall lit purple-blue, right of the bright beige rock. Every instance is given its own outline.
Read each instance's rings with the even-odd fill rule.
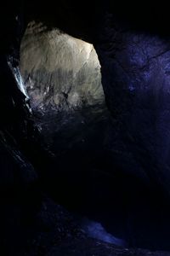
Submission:
[[[107,15],[96,49],[112,114],[108,139],[123,170],[169,193],[170,41],[129,30]],[[104,41],[105,38],[105,41]]]

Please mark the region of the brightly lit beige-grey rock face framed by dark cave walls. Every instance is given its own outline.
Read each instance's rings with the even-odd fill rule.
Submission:
[[[32,21],[20,47],[20,71],[31,107],[69,110],[103,104],[100,65],[92,44]]]

